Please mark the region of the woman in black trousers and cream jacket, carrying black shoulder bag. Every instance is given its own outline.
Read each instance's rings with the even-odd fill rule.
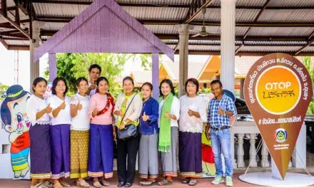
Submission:
[[[138,126],[143,101],[141,96],[135,93],[133,89],[133,79],[131,77],[123,78],[124,92],[118,95],[116,108],[114,109],[114,114],[118,115],[117,127],[120,130],[130,124]],[[131,187],[134,182],[138,142],[138,135],[128,140],[119,138],[117,140],[118,187]],[[128,167],[126,167],[126,163]]]

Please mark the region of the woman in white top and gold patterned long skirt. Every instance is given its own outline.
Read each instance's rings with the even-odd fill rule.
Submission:
[[[89,123],[88,105],[89,96],[86,95],[88,82],[80,77],[76,80],[76,93],[71,98],[71,178],[77,178],[78,187],[90,187],[83,179],[87,177]]]

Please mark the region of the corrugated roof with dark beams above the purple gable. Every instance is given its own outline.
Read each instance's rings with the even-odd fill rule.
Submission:
[[[92,0],[1,0],[0,42],[10,50],[29,50],[31,21],[44,21],[46,41],[86,9]],[[220,0],[116,0],[134,19],[171,48],[178,46],[176,25],[203,26],[209,36],[189,38],[189,54],[220,54]],[[236,56],[282,52],[314,55],[314,1],[242,0],[236,2]],[[178,49],[180,51],[180,49]],[[178,53],[176,51],[176,53]]]

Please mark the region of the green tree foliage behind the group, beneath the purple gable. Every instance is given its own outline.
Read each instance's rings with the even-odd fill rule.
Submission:
[[[66,79],[69,95],[73,95],[76,92],[75,80],[81,76],[88,78],[89,66],[96,63],[101,66],[101,76],[109,81],[109,91],[116,96],[121,92],[121,85],[118,85],[116,78],[121,75],[126,61],[136,56],[127,53],[60,53],[56,56],[57,76]],[[147,58],[140,56],[142,66],[149,67]],[[45,71],[45,77],[49,77],[49,69]]]

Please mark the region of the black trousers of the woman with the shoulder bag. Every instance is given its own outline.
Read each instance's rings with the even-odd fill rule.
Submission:
[[[136,172],[136,155],[138,152],[139,136],[128,140],[117,140],[118,182],[134,182]],[[128,160],[128,167],[126,167]]]

